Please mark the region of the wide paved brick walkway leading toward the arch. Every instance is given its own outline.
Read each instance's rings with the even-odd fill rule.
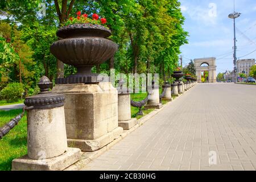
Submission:
[[[216,169],[256,169],[254,85],[198,84],[84,168]]]

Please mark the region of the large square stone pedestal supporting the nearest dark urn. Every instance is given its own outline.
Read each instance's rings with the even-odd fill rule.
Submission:
[[[57,84],[52,92],[65,95],[68,146],[96,151],[122,134],[118,93],[110,82]]]

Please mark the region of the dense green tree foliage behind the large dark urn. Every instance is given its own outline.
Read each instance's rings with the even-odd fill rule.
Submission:
[[[56,31],[82,11],[106,18],[118,51],[94,72],[160,73],[170,77],[179,65],[180,46],[188,43],[184,16],[177,0],[3,0],[0,3],[0,78],[35,87],[46,75],[53,82],[63,65],[49,52]],[[64,75],[75,72],[69,65]],[[192,70],[191,70],[192,71]]]

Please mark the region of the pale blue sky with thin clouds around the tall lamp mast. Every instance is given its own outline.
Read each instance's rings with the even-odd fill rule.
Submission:
[[[234,0],[180,2],[183,27],[189,32],[189,43],[181,47],[183,65],[190,59],[216,57],[217,73],[232,71],[234,28],[228,15],[234,11]],[[237,58],[256,59],[256,1],[235,0],[235,10],[241,13],[236,19]]]

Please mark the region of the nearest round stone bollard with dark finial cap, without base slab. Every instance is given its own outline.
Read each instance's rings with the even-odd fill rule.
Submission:
[[[65,129],[64,95],[47,93],[51,84],[42,77],[39,86],[42,92],[27,97],[24,104],[27,110],[27,155],[30,159],[39,159],[41,153],[48,158],[63,154],[68,149]]]

